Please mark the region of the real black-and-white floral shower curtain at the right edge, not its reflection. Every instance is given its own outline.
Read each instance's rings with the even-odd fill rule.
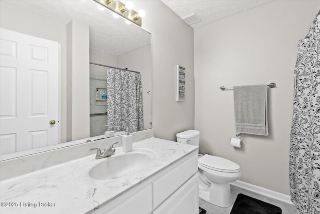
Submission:
[[[300,40],[294,69],[290,195],[299,213],[320,214],[320,16]]]

